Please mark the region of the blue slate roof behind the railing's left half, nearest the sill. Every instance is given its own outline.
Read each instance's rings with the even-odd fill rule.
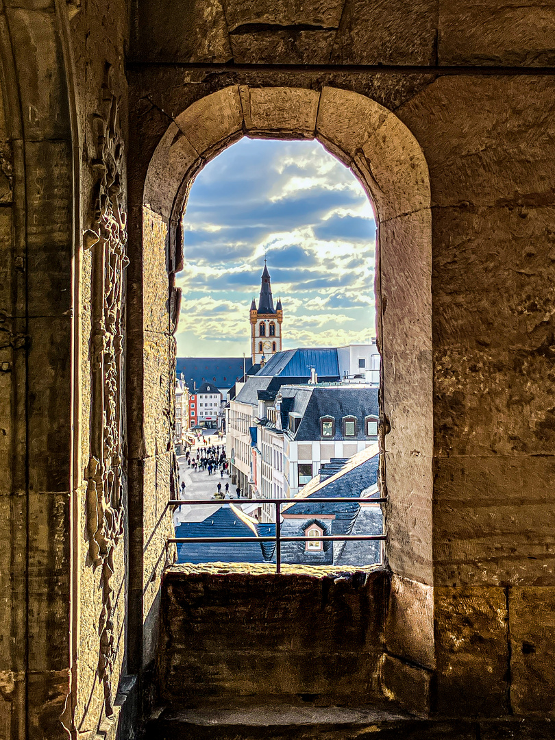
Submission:
[[[254,534],[228,504],[203,522],[184,522],[175,529],[176,537],[252,537]],[[178,562],[266,562],[263,542],[184,542],[177,547]]]

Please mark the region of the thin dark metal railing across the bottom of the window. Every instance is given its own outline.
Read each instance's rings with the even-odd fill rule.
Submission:
[[[386,498],[360,499],[354,497],[310,497],[306,499],[179,499],[170,500],[168,506],[183,505],[225,505],[225,504],[272,504],[275,506],[275,535],[260,535],[252,537],[169,537],[167,544],[201,543],[201,542],[275,542],[275,565],[276,573],[281,572],[281,543],[282,542],[366,542],[369,540],[387,539],[385,534],[323,534],[322,536],[283,536],[281,534],[280,509],[283,504],[303,503],[365,503],[380,504],[386,502]],[[313,514],[307,514],[312,517]],[[263,522],[269,524],[270,522]]]

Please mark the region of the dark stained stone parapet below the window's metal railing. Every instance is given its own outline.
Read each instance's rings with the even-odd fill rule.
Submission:
[[[161,702],[366,703],[378,696],[387,591],[383,571],[220,575],[173,566],[162,592]]]

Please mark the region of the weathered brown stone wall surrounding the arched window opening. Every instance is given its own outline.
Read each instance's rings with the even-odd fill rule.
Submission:
[[[555,9],[498,6],[139,0],[129,24],[125,0],[4,3],[0,738],[66,736],[62,719],[84,739],[115,733],[121,677],[155,656],[179,220],[198,168],[245,134],[317,135],[380,220],[386,693],[442,713],[553,715]],[[112,167],[118,249],[129,212],[110,390],[124,458],[110,503],[124,514],[99,556],[101,271],[84,232],[100,228]]]

